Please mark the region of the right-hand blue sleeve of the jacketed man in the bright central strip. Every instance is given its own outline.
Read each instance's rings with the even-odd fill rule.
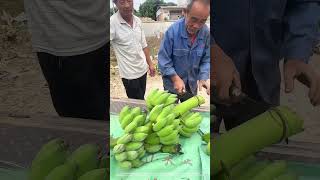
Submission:
[[[210,76],[210,36],[208,33],[204,55],[200,60],[200,73],[199,73],[199,80],[207,80]]]

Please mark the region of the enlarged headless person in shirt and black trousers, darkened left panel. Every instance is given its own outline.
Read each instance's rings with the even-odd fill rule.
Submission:
[[[108,4],[25,0],[33,50],[59,116],[108,115]]]

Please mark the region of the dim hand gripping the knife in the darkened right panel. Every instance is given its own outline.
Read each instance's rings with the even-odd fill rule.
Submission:
[[[218,98],[223,102],[230,100],[230,87],[236,86],[241,90],[240,75],[232,61],[223,50],[214,45],[211,47],[211,58],[213,63],[214,84],[217,88]]]

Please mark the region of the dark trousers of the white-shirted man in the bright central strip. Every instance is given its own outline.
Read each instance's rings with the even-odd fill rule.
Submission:
[[[122,78],[122,82],[124,88],[126,89],[128,98],[144,100],[147,84],[147,73],[137,79]]]

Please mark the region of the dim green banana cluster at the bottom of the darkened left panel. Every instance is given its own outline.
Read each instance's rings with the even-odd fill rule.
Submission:
[[[96,144],[70,152],[60,138],[43,145],[32,161],[29,180],[100,180],[107,178],[108,157]]]

